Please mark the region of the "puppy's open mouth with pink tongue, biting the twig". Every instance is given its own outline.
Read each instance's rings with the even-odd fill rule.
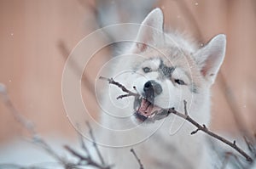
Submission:
[[[159,106],[152,104],[145,98],[137,98],[134,102],[134,109],[138,121],[154,122],[165,118],[170,113],[168,110],[162,109]]]

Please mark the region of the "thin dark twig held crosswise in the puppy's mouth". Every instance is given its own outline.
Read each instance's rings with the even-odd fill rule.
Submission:
[[[110,78],[110,79],[109,79],[109,78],[106,78],[106,77],[102,77],[102,78],[105,79],[105,80],[108,80],[108,82],[109,82],[110,84],[114,84],[114,85],[116,85],[117,87],[121,88],[122,91],[124,91],[125,93],[132,93],[130,90],[128,90],[127,88],[125,88],[125,86],[123,86],[123,85],[120,84],[119,82],[113,81],[113,78]],[[134,96],[137,97],[137,95],[138,95],[137,93],[134,93]],[[186,101],[184,101],[184,109],[186,109]],[[185,110],[185,112],[186,112],[186,111],[187,111],[187,110]],[[180,112],[178,112],[177,110],[174,110],[174,109],[168,109],[168,112],[169,112],[169,114],[177,115],[177,116],[183,118],[184,120],[189,121],[192,125],[194,125],[197,129],[195,130],[195,132],[191,132],[191,134],[195,134],[195,133],[198,132],[198,131],[205,132],[205,133],[207,133],[209,136],[211,136],[212,138],[216,138],[216,139],[218,139],[219,141],[223,142],[224,144],[229,145],[231,148],[236,149],[236,151],[237,151],[238,153],[240,153],[242,156],[244,156],[247,161],[253,162],[253,159],[250,157],[250,155],[247,155],[247,153],[246,153],[245,151],[243,151],[241,148],[239,148],[239,147],[236,145],[236,141],[234,141],[234,142],[232,143],[232,142],[230,142],[229,140],[227,140],[227,139],[225,139],[225,138],[219,136],[218,134],[216,134],[216,133],[210,131],[210,130],[206,127],[206,125],[204,125],[204,124],[203,124],[203,125],[200,125],[198,122],[196,122],[194,119],[192,119],[192,118],[188,115],[188,113],[183,114],[183,113],[180,113]]]

